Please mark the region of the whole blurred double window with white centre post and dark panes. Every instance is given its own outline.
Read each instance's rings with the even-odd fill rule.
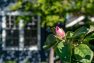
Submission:
[[[19,15],[18,15],[19,16]],[[32,50],[39,46],[39,24],[38,17],[30,16],[31,21],[28,21],[24,27],[20,28],[24,22],[16,23],[17,15],[5,15],[5,37],[2,37],[5,50]],[[3,20],[4,21],[4,20]],[[2,22],[3,22],[2,21]],[[23,20],[22,20],[23,21]],[[21,23],[20,23],[21,22]]]

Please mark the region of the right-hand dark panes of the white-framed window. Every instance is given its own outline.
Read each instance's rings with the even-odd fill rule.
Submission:
[[[29,22],[24,28],[24,46],[28,47],[37,43],[37,22]]]

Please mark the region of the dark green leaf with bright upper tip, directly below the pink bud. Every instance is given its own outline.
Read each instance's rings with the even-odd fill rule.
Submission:
[[[71,46],[70,44],[64,45],[63,42],[58,43],[57,48],[55,50],[57,55],[61,58],[63,62],[71,61]]]

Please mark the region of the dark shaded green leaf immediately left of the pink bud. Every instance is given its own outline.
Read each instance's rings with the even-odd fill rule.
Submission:
[[[50,47],[54,46],[57,43],[56,38],[53,34],[48,35],[45,45],[43,46],[44,49],[49,49]]]

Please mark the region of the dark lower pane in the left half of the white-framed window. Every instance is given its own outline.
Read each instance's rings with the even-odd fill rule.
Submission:
[[[6,30],[6,47],[19,46],[19,31],[18,30]]]

